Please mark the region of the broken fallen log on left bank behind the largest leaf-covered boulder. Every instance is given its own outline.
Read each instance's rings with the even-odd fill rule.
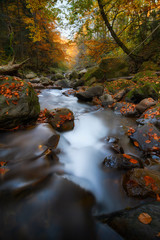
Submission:
[[[27,61],[29,60],[26,59],[25,61],[21,62],[21,63],[16,63],[14,64],[14,58],[11,62],[9,62],[7,65],[4,66],[0,66],[0,74],[2,75],[12,75],[14,73],[16,73]]]

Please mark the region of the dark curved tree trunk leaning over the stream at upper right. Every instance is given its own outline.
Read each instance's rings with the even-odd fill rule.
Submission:
[[[135,63],[140,63],[143,62],[143,58],[137,55],[134,55],[132,53],[130,53],[130,50],[124,45],[124,43],[120,40],[120,38],[117,36],[117,34],[115,33],[115,31],[113,30],[111,24],[108,21],[107,15],[104,11],[103,5],[102,5],[102,1],[98,0],[98,5],[99,5],[99,9],[100,9],[100,13],[101,16],[109,30],[109,32],[111,33],[111,36],[113,37],[113,39],[115,40],[115,42],[118,44],[119,47],[122,48],[122,50],[135,62]]]

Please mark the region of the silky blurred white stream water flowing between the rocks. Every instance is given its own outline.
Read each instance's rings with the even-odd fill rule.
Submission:
[[[55,152],[43,154],[53,135],[48,124],[0,133],[0,239],[122,239],[94,216],[138,205],[122,188],[124,172],[106,169],[113,154],[108,136],[120,138],[125,153],[138,155],[126,136],[135,121],[110,109],[79,103],[60,90],[43,90],[41,109],[67,107],[75,128],[61,133]]]

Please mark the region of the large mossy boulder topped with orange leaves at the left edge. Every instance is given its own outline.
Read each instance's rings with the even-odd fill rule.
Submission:
[[[1,76],[0,82],[0,128],[11,129],[35,122],[40,105],[31,84],[11,76]]]

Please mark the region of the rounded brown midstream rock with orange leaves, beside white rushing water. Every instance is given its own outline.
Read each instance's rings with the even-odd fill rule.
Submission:
[[[46,114],[48,122],[59,132],[69,131],[74,128],[73,112],[67,108],[56,108]]]

